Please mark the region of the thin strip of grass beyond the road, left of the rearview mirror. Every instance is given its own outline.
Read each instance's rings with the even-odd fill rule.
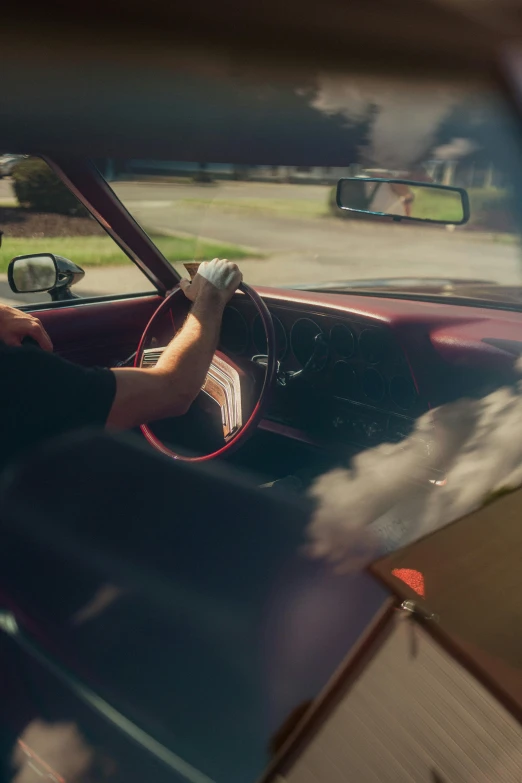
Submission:
[[[319,218],[328,215],[328,204],[319,199],[312,201],[299,198],[184,198],[178,201],[177,204],[184,204],[190,207],[199,206],[207,209],[212,208],[236,214],[264,214],[295,218]]]

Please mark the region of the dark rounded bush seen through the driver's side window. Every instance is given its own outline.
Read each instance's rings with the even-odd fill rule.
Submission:
[[[87,215],[87,210],[39,158],[29,158],[13,171],[13,187],[22,207],[59,215]]]

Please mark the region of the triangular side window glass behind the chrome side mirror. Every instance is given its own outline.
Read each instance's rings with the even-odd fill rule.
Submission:
[[[45,161],[0,155],[0,301],[49,302],[50,295],[14,293],[7,282],[12,258],[52,253],[73,261],[85,276],[74,285],[81,297],[137,293],[152,285],[87,212]]]

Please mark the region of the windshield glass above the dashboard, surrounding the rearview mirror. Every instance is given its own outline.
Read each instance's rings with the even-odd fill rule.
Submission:
[[[98,163],[180,273],[184,261],[221,256],[240,259],[258,285],[522,304],[520,160],[498,96],[332,76],[243,84],[235,103],[227,95],[214,95],[218,121],[200,130],[225,139],[226,159],[204,157],[201,139],[187,135],[178,160]],[[347,176],[464,188],[470,220],[396,223],[340,210],[335,189]],[[418,205],[434,220],[436,196],[426,189]]]

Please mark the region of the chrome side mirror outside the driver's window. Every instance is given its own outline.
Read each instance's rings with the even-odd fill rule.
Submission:
[[[52,253],[17,256],[9,263],[7,279],[15,294],[47,292],[53,302],[78,299],[70,287],[85,275],[83,269],[67,258]]]

